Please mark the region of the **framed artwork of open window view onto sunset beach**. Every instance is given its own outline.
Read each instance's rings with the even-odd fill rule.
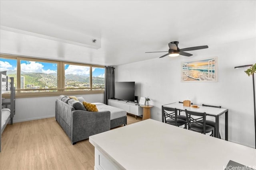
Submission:
[[[217,58],[181,63],[182,82],[217,82]]]

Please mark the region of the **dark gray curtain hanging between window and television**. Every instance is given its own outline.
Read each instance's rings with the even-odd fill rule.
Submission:
[[[115,68],[105,66],[105,94],[104,103],[108,104],[108,99],[115,97]]]

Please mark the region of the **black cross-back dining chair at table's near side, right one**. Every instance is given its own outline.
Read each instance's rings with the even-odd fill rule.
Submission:
[[[185,109],[185,112],[188,122],[188,130],[206,134],[214,129],[214,127],[206,125],[205,112],[188,111],[187,109]]]

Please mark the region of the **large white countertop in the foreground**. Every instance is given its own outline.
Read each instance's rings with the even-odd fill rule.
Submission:
[[[229,160],[256,168],[256,149],[147,119],[89,137],[119,169],[223,170]]]

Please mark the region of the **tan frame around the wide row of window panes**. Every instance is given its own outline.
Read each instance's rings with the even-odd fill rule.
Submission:
[[[86,63],[78,63],[78,62],[72,62],[72,61],[42,59],[42,58],[38,58],[38,57],[24,57],[24,56],[19,56],[19,55],[9,55],[9,54],[2,54],[2,53],[0,53],[0,57],[3,59],[16,59],[16,61],[17,61],[16,98],[59,96],[61,94],[63,94],[63,95],[102,94],[105,92],[105,86],[104,86],[104,88],[101,88],[104,90],[95,90],[97,88],[92,88],[92,67],[105,68],[105,66],[86,64]],[[51,89],[57,90],[57,91],[56,92],[21,92],[21,91],[30,91],[30,90],[26,90],[26,89],[20,89],[20,77],[21,77],[20,61],[21,60],[44,62],[44,63],[56,63],[57,64],[57,88],[51,88]],[[80,88],[79,90],[65,91],[65,90],[67,90],[65,88],[65,64],[72,64],[72,65],[78,65],[78,66],[89,66],[90,67],[90,88],[84,88],[84,90],[81,90],[83,88]],[[49,89],[38,89],[38,90],[49,90]]]

